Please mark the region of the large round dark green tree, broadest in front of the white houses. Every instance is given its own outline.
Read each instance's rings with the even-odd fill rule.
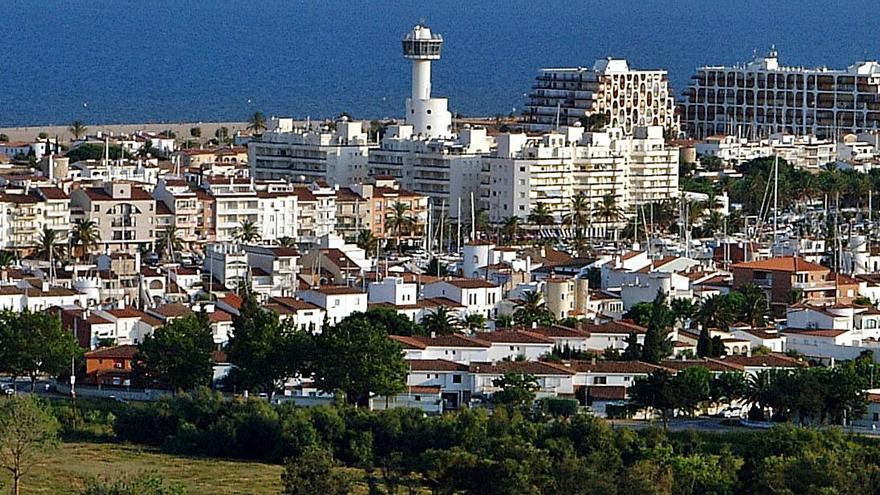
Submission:
[[[364,313],[353,313],[315,337],[313,368],[320,390],[342,391],[349,404],[365,405],[371,394],[405,390],[409,366],[400,344]]]

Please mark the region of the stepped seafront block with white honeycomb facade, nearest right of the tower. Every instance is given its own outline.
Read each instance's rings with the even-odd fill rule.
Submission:
[[[666,71],[630,69],[610,57],[592,68],[541,69],[522,120],[530,130],[548,131],[595,114],[626,133],[645,126],[678,130]]]

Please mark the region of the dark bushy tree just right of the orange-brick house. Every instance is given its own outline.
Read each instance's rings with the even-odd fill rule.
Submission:
[[[175,392],[210,385],[213,350],[211,329],[197,315],[175,318],[138,345],[133,378],[137,383],[158,383]]]

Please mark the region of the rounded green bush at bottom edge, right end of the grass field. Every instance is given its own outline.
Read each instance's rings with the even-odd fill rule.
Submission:
[[[281,483],[282,495],[347,495],[352,488],[351,480],[335,469],[330,453],[318,446],[288,459]]]

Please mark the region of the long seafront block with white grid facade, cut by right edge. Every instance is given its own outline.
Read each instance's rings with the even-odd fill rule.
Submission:
[[[737,129],[838,137],[880,124],[880,63],[786,67],[771,49],[747,64],[700,67],[684,96],[684,127],[697,138]]]

